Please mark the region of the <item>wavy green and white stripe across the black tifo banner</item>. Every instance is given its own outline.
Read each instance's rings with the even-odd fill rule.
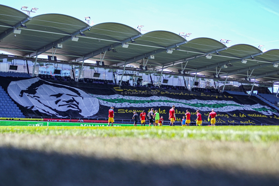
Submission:
[[[167,98],[164,96],[150,96],[150,97],[137,97],[137,96],[122,96],[122,95],[96,95],[91,96],[99,100],[99,104],[104,106],[114,106],[116,108],[121,107],[155,107],[155,106],[168,106],[173,104],[176,107],[199,109],[200,111],[211,111],[213,108],[216,112],[230,112],[234,110],[252,110],[257,111],[265,115],[276,114],[279,116],[278,111],[268,106],[260,104],[244,105],[238,104],[234,101],[218,101],[218,100],[179,100],[173,98]]]

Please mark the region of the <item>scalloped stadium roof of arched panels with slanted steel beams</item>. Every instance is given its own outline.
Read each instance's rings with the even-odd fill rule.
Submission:
[[[219,74],[236,79],[251,75],[250,78],[257,81],[279,81],[277,49],[262,52],[246,44],[227,47],[210,38],[187,41],[168,31],[142,34],[120,23],[100,23],[91,27],[67,15],[29,17],[5,5],[0,5],[0,9],[0,49],[17,56],[34,57],[55,52],[55,56],[64,61],[103,58],[107,66],[139,66],[144,59],[144,65],[147,63],[153,71],[163,68],[176,73],[184,70],[186,74],[212,77]],[[17,28],[20,31],[15,31]],[[63,47],[58,48],[58,43]],[[154,59],[150,58],[152,55]]]

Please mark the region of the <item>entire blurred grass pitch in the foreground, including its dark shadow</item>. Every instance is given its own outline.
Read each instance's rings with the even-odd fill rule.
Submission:
[[[0,126],[0,185],[278,185],[277,126]]]

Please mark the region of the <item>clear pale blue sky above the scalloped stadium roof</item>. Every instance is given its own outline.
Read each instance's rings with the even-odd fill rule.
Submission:
[[[264,45],[262,50],[279,49],[279,1],[5,1],[15,9],[39,8],[36,16],[61,13],[94,23],[117,22],[131,27],[144,25],[148,31],[192,33],[187,39],[209,37],[232,40],[228,45]]]

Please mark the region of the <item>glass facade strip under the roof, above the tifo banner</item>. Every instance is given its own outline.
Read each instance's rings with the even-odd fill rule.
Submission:
[[[0,59],[0,71],[1,72],[18,72],[18,73],[28,73],[32,75],[35,62],[28,60],[17,60],[17,59]],[[15,66],[17,68],[15,69]],[[28,67],[27,67],[28,66]],[[60,70],[60,71],[55,71]],[[60,72],[59,74],[54,74],[55,72]],[[1,73],[0,72],[0,73]],[[59,75],[59,76],[70,76],[71,78],[78,80],[80,73],[80,78],[92,78],[92,79],[106,79],[113,80],[114,77],[116,83],[118,84],[121,80],[123,70],[121,69],[110,69],[110,68],[100,68],[94,66],[83,66],[81,65],[71,65],[71,64],[59,64],[52,62],[37,62],[35,66],[34,74],[45,75]],[[113,75],[114,74],[114,75]],[[125,70],[122,81],[129,81],[131,86],[137,84],[137,79],[142,79],[141,85],[154,84],[155,86],[160,86],[161,82],[163,85],[172,85],[172,86],[186,86],[189,90],[191,87],[196,88],[216,88],[219,91],[223,90],[225,81],[213,80],[210,78],[200,78],[197,77],[185,77],[180,75],[172,74],[162,74],[161,82],[160,73],[138,73],[137,71]],[[165,81],[164,81],[165,80]],[[167,81],[166,81],[167,80]],[[166,83],[167,82],[167,83]],[[253,82],[243,83],[237,81],[227,81],[224,87],[224,91],[238,91],[238,92],[250,92],[252,89]],[[277,92],[278,85],[273,87],[268,84],[254,84],[253,93],[272,93]]]

